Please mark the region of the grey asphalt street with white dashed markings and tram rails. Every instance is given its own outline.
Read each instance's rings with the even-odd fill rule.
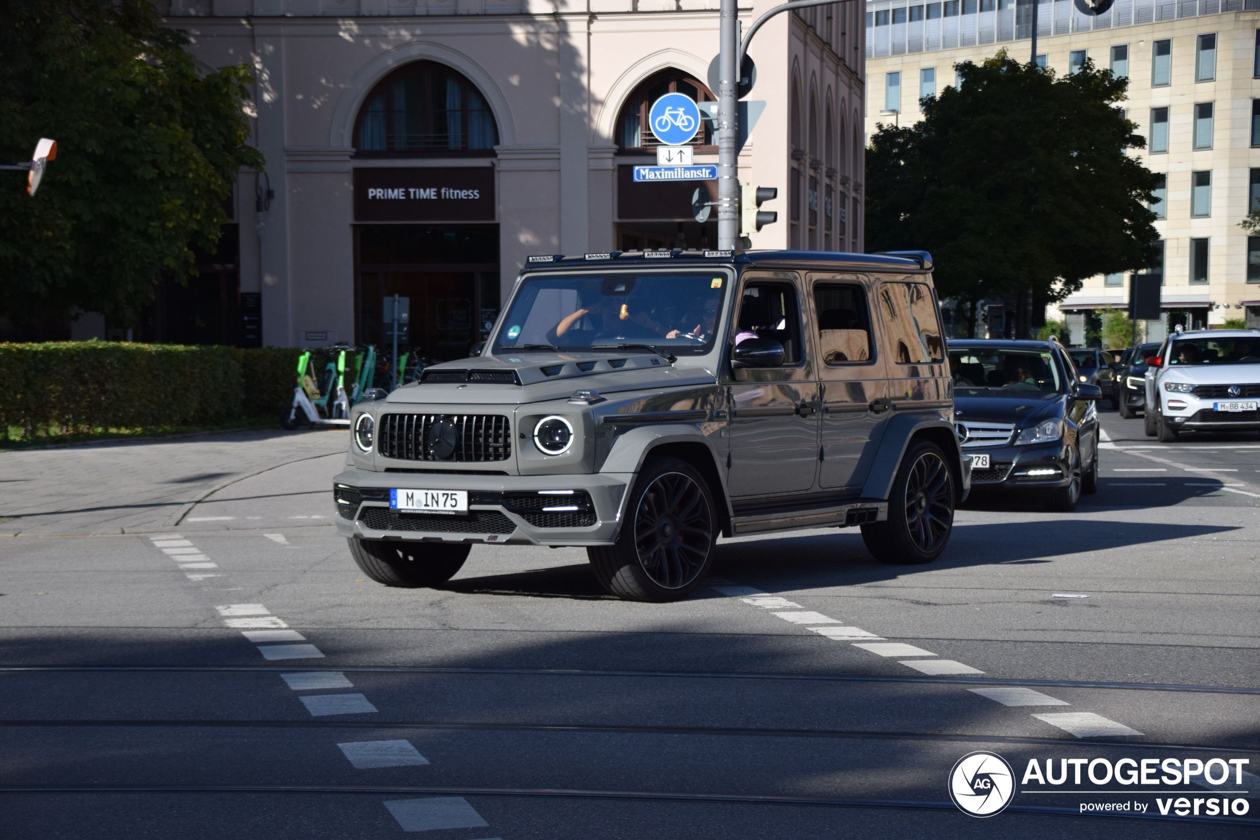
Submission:
[[[338,432],[0,455],[3,834],[1254,837],[1260,436],[1104,428],[1075,514],[976,499],[921,568],[852,529],[728,540],[675,604],[605,597],[575,549],[365,581]],[[973,751],[1019,782],[987,820],[948,791]],[[1250,763],[1024,780],[1126,757]]]

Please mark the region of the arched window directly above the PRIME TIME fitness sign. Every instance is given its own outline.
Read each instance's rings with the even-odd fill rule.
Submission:
[[[413,62],[381,79],[354,127],[355,151],[369,155],[484,155],[498,142],[481,92],[435,62]]]

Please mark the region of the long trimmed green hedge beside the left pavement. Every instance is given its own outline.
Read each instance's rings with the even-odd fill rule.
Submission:
[[[60,341],[0,344],[0,440],[213,426],[278,416],[301,350]]]

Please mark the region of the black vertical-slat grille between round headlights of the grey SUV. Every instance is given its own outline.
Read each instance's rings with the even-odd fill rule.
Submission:
[[[454,431],[455,446],[442,451],[440,423]],[[501,414],[382,414],[377,421],[377,452],[403,461],[507,461],[512,428]],[[445,457],[441,457],[445,456]]]

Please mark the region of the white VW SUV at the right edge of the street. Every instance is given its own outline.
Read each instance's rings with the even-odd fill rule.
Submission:
[[[1164,340],[1147,368],[1147,436],[1260,429],[1260,330],[1197,330]]]

